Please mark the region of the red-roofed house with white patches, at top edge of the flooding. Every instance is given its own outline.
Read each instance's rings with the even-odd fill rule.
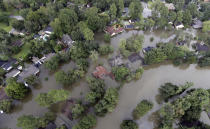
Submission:
[[[120,27],[120,25],[114,25],[106,27],[104,31],[110,34],[111,36],[115,36],[119,33],[122,33],[124,31],[124,28]]]

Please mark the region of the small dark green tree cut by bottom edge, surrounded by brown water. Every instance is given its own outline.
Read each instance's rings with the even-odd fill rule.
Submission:
[[[123,120],[120,124],[121,129],[138,129],[138,124],[133,120]]]

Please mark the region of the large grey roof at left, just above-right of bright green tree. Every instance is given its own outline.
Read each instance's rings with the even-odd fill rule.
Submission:
[[[30,65],[28,68],[25,68],[22,73],[20,73],[20,77],[22,79],[27,78],[31,75],[36,75],[39,73],[39,69],[34,65]]]

